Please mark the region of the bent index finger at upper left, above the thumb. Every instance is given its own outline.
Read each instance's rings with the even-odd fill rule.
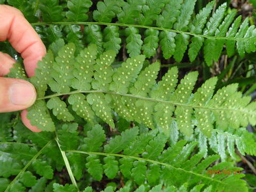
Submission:
[[[28,76],[34,76],[38,60],[46,53],[45,46],[18,9],[0,5],[0,41],[6,39],[9,39],[13,48],[21,53]]]

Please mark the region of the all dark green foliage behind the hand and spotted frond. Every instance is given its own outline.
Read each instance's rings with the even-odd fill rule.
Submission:
[[[217,76],[215,91],[237,83],[244,96],[255,98],[253,0],[0,3],[22,11],[54,57],[67,43],[76,45],[75,55],[95,44],[98,54],[115,51],[113,68],[144,54],[148,61],[143,68],[161,62],[157,81],[170,67],[177,67],[179,80],[198,71],[196,88]],[[8,42],[0,44],[1,51],[22,62]],[[29,132],[18,113],[0,115],[0,191],[253,191],[256,187],[254,126],[234,130],[214,125],[211,138],[199,129],[188,137],[172,121],[166,137],[116,113],[110,127],[101,119],[96,122],[100,125],[91,125],[71,106],[68,110],[73,123],[52,116],[57,125],[53,133]],[[207,175],[207,169],[243,170],[245,177]]]

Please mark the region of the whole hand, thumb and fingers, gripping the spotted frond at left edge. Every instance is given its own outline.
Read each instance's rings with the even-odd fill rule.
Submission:
[[[0,41],[9,40],[13,48],[21,54],[29,77],[35,75],[37,62],[46,53],[45,46],[36,31],[23,14],[14,7],[0,5]],[[35,87],[22,79],[5,78],[15,60],[0,52],[0,113],[23,110],[36,100]],[[21,119],[28,129],[40,132],[30,124],[27,111],[21,112]]]

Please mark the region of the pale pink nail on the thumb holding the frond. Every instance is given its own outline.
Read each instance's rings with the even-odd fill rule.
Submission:
[[[30,106],[35,102],[36,91],[30,83],[15,83],[9,89],[9,98],[14,105]]]

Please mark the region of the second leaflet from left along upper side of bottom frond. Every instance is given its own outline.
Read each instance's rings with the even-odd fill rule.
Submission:
[[[104,147],[105,151],[107,151],[107,153],[118,153],[129,147],[130,143],[135,140],[138,131],[138,127],[134,127],[122,132],[121,136],[116,136],[115,139],[112,139],[109,144]]]

